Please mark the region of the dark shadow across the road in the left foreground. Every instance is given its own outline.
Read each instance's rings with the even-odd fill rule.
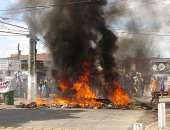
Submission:
[[[19,127],[30,121],[46,121],[55,119],[80,118],[75,113],[83,110],[53,110],[53,109],[4,109],[0,110],[1,127]]]

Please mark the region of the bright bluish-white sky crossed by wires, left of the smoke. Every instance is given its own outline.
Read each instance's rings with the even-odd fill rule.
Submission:
[[[0,0],[0,10],[8,9],[11,4],[15,3],[17,0]],[[0,12],[0,17],[11,17],[8,16],[2,12]],[[15,19],[15,18],[13,18]],[[1,20],[1,19],[0,19]],[[17,24],[19,26],[24,26],[25,23],[23,21],[17,20],[5,20],[5,22]],[[12,28],[14,30],[18,30],[18,28],[14,28],[11,26],[4,26],[3,24],[0,24],[0,30],[6,30],[6,28]],[[10,54],[16,54],[17,53],[17,46],[20,44],[20,50],[22,54],[28,54],[29,52],[29,38],[26,36],[1,36],[2,33],[0,33],[0,58],[8,57]],[[4,35],[4,34],[3,34]],[[37,45],[38,53],[46,52],[47,49],[44,47],[44,45],[38,43]]]

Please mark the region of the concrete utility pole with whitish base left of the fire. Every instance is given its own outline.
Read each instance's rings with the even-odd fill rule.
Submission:
[[[33,101],[37,96],[36,44],[36,37],[30,33],[28,58],[28,101]]]

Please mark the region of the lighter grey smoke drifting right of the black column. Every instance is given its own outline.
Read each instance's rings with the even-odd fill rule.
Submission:
[[[118,41],[119,50],[116,57],[126,59],[150,58],[156,55],[153,32],[159,31],[161,25],[157,14],[156,3],[141,0],[129,2],[129,7],[124,13],[123,31],[120,31]]]

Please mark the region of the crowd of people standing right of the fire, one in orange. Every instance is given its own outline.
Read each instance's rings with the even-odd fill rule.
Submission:
[[[151,104],[159,102],[159,96],[166,93],[170,96],[170,83],[166,77],[145,76],[139,72],[124,74],[120,83],[130,96],[152,96]]]

